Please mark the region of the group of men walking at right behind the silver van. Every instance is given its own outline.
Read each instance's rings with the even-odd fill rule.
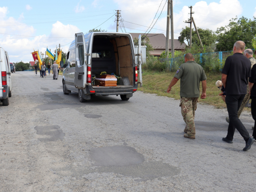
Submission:
[[[236,41],[233,46],[233,55],[227,57],[222,70],[221,80],[226,94],[225,102],[229,115],[227,136],[222,140],[233,143],[233,136],[237,129],[245,141],[243,151],[247,151],[256,139],[256,60],[253,58],[252,49],[244,49],[245,43]],[[186,122],[184,137],[189,139],[195,139],[194,119],[200,96],[200,81],[202,81],[201,99],[206,98],[207,89],[207,77],[204,69],[194,60],[191,53],[185,55],[185,63],[180,65],[167,89],[167,93],[170,93],[172,87],[180,79],[180,107],[183,120]],[[240,106],[249,98],[252,99],[251,112],[255,121],[253,138],[239,119]]]

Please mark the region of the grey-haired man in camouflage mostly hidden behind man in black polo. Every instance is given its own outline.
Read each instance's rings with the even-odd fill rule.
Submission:
[[[253,65],[256,64],[256,59],[253,58],[253,50],[252,49],[245,49],[244,50],[244,56],[247,57],[248,59],[250,59],[251,62],[251,69],[253,68]],[[248,103],[248,101],[250,100],[250,94],[249,94],[249,87],[247,85],[247,94],[244,97],[244,100],[239,108],[239,111],[237,113],[238,118],[240,117],[245,105]],[[229,118],[226,117],[226,121],[229,123]]]

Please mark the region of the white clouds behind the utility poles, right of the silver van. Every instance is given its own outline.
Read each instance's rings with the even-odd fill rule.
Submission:
[[[118,7],[122,10],[121,15],[122,18],[126,21],[130,21],[132,23],[141,24],[144,26],[149,26],[157,12],[159,7],[158,2],[150,2],[150,1],[138,1],[136,3],[130,3],[127,0],[114,0]],[[157,4],[158,3],[158,4]],[[175,30],[175,38],[178,38],[180,31],[182,28],[188,26],[187,23],[183,21],[188,20],[190,9],[188,6],[179,7],[180,0],[174,1],[174,30]],[[153,6],[154,5],[154,6]],[[205,1],[199,1],[195,3],[193,6],[193,17],[195,19],[195,23],[197,27],[203,29],[211,29],[215,31],[217,27],[225,26],[229,23],[231,18],[239,16],[242,12],[242,7],[239,3],[239,0],[220,0],[218,3],[212,2],[207,4]],[[140,7],[145,7],[141,9],[137,9]],[[167,6],[166,6],[167,7]],[[159,19],[154,26],[156,29],[152,29],[151,32],[159,32],[166,34],[166,7],[163,9],[165,11],[163,13],[163,17]],[[160,6],[158,11],[157,17],[163,8],[163,4]],[[126,11],[129,9],[133,9],[131,11]],[[180,11],[178,11],[180,10]],[[178,12],[177,12],[178,11]],[[131,23],[124,22],[125,26],[134,28],[134,29],[141,29],[146,30],[146,27],[134,25]],[[114,25],[112,28],[114,29]],[[141,32],[139,30],[127,29],[127,31],[133,32]]]

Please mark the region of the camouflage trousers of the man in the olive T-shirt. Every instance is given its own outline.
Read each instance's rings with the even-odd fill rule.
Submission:
[[[197,108],[198,97],[186,98],[180,97],[180,108],[183,120],[186,123],[187,134],[195,136],[195,110]]]

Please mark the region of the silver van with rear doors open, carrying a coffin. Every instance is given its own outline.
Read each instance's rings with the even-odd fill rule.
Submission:
[[[141,83],[137,73],[138,63],[141,62],[136,61],[135,56],[134,43],[128,33],[75,34],[63,66],[63,93],[79,93],[80,102],[87,102],[91,94],[120,95],[122,100],[127,101],[137,91],[138,83]],[[119,84],[113,87],[96,86],[93,78],[101,72],[121,77]]]

